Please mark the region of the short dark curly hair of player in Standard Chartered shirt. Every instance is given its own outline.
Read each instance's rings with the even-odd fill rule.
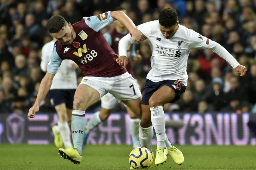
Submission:
[[[177,23],[178,21],[178,13],[175,9],[167,7],[160,11],[159,24],[164,27],[170,27]]]

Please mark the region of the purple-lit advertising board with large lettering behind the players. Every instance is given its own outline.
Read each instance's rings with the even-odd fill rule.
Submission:
[[[87,122],[92,114],[86,113]],[[184,126],[166,128],[171,143],[191,145],[256,145],[247,122],[256,122],[256,114],[243,113],[172,113],[166,119],[183,120]],[[0,143],[53,143],[52,126],[58,121],[56,113],[40,113],[35,118],[27,115],[0,115]],[[129,115],[113,113],[106,122],[95,128],[88,138],[90,144],[131,144]],[[153,139],[152,144],[156,144]]]

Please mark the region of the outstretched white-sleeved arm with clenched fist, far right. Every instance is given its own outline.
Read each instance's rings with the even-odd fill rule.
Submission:
[[[246,67],[244,65],[240,65],[239,62],[224,47],[222,47],[222,45],[200,35],[195,31],[192,31],[190,38],[190,48],[209,49],[218,54],[221,58],[225,59],[233,67],[233,69],[235,69],[237,74],[240,76],[245,75],[247,71]]]

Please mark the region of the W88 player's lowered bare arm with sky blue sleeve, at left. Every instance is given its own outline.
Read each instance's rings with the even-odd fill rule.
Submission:
[[[59,57],[56,51],[56,45],[54,45],[54,49],[52,51],[51,58],[49,59],[47,65],[46,75],[42,79],[40,83],[40,87],[36,96],[36,100],[34,105],[28,110],[28,117],[35,117],[35,113],[39,111],[39,106],[42,100],[45,98],[46,94],[49,92],[52,79],[55,76],[56,72],[58,71],[59,66],[61,65],[62,59]]]

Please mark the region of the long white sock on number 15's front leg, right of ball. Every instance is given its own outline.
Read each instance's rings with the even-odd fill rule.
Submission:
[[[165,115],[163,106],[150,107],[151,122],[155,129],[157,149],[165,148]]]

